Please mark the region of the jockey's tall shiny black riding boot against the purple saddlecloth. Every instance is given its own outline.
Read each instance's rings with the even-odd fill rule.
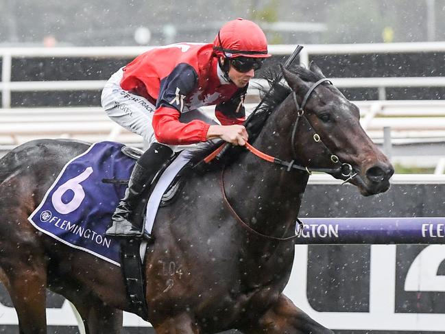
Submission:
[[[170,147],[153,143],[134,165],[128,188],[121,202],[113,213],[111,224],[106,230],[106,235],[111,237],[145,237],[152,239],[145,232],[143,226],[143,213],[145,212],[146,199],[141,196],[147,194],[154,176],[161,169],[173,151]],[[139,205],[143,201],[144,205]],[[138,208],[138,212],[136,212]]]

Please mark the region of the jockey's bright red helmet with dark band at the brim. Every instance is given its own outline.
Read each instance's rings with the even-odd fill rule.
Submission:
[[[221,27],[213,49],[217,56],[234,58],[239,56],[250,58],[267,58],[266,36],[256,23],[249,20],[236,19]]]

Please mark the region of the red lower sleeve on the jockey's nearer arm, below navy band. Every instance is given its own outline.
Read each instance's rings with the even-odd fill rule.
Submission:
[[[159,143],[167,145],[187,145],[207,140],[209,124],[193,120],[189,123],[179,121],[180,112],[161,106],[153,115],[154,136]]]

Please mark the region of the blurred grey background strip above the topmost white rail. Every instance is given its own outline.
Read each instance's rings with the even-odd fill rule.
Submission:
[[[444,0],[1,0],[1,46],[211,42],[221,23],[259,23],[269,43],[445,39]]]

